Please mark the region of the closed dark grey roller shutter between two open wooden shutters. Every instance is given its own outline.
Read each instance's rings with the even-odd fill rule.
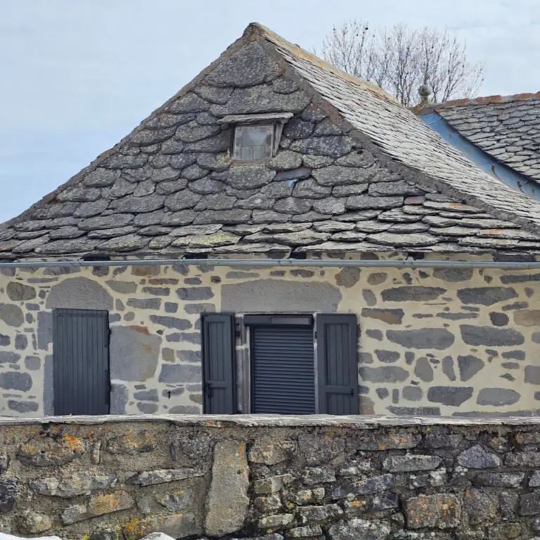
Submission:
[[[252,329],[252,412],[313,414],[313,328],[256,326]]]

